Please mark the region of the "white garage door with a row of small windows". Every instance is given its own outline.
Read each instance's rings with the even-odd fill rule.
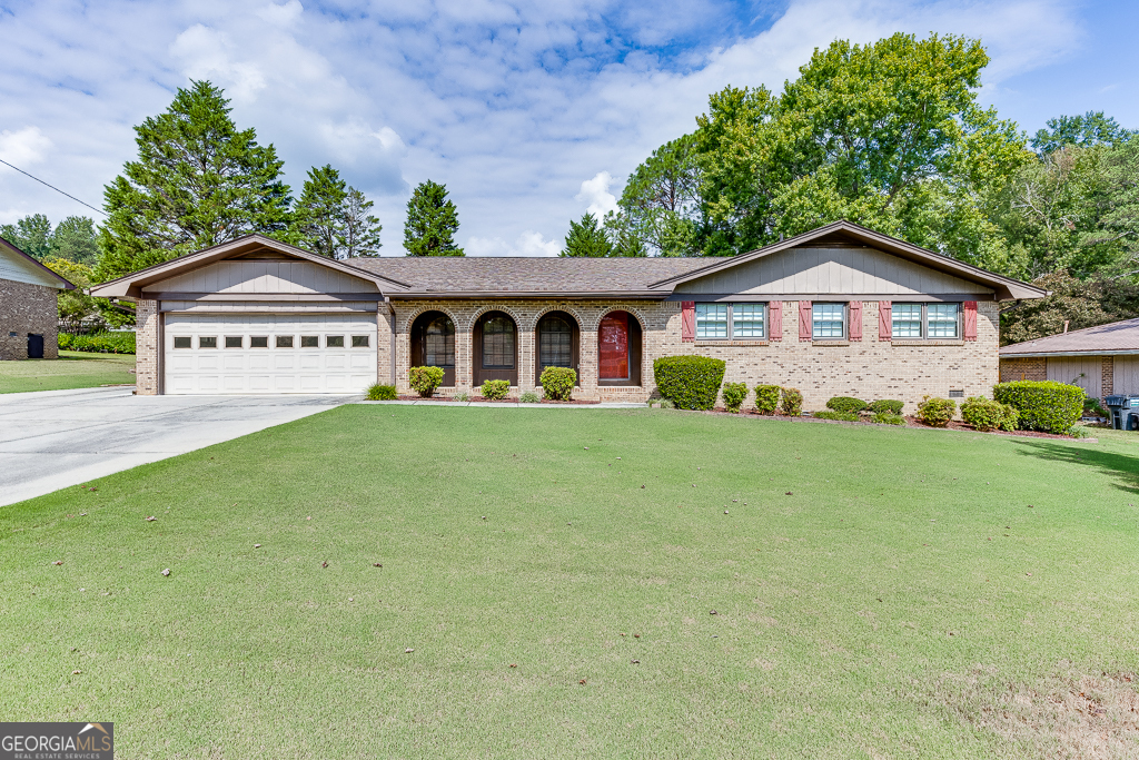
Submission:
[[[171,394],[357,393],[376,382],[376,316],[166,314]]]

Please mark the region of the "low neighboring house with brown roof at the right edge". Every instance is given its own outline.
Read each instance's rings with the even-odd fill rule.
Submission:
[[[1139,394],[1139,319],[1006,345],[1000,378],[1071,383],[1093,399]]]

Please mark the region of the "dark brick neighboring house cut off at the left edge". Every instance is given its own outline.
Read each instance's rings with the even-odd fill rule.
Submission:
[[[0,360],[59,358],[62,289],[75,286],[0,238]]]

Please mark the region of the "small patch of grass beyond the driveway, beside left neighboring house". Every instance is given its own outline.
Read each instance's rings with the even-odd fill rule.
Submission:
[[[133,384],[134,357],[60,351],[58,359],[0,361],[0,393]]]

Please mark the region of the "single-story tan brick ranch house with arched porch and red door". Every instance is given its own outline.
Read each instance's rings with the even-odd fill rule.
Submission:
[[[644,401],[653,360],[704,354],[726,381],[833,395],[990,392],[998,301],[1044,291],[836,222],[731,259],[331,261],[253,235],[100,285],[138,302],[139,393],[516,392],[547,366],[581,399]]]

